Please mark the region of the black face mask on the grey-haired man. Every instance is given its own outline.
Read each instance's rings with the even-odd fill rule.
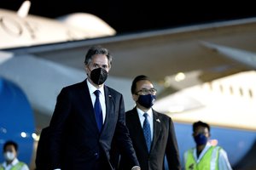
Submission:
[[[103,84],[108,78],[108,71],[102,68],[97,68],[90,71],[90,79],[97,85]]]

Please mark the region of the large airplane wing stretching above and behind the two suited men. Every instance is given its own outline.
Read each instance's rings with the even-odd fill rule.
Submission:
[[[156,82],[178,72],[191,73],[197,81],[208,82],[218,77],[254,69],[252,62],[242,62],[256,53],[256,18],[231,20],[199,26],[186,26],[161,31],[139,32],[114,37],[55,43],[30,48],[14,48],[15,54],[33,54],[61,65],[83,69],[84,54],[91,45],[102,44],[114,56],[111,75],[135,77],[146,74]],[[236,54],[222,51],[240,51]],[[250,54],[249,54],[250,53]],[[254,65],[252,65],[254,64]],[[198,82],[195,82],[197,84]],[[186,85],[191,86],[189,80]],[[184,88],[182,86],[182,88]]]

